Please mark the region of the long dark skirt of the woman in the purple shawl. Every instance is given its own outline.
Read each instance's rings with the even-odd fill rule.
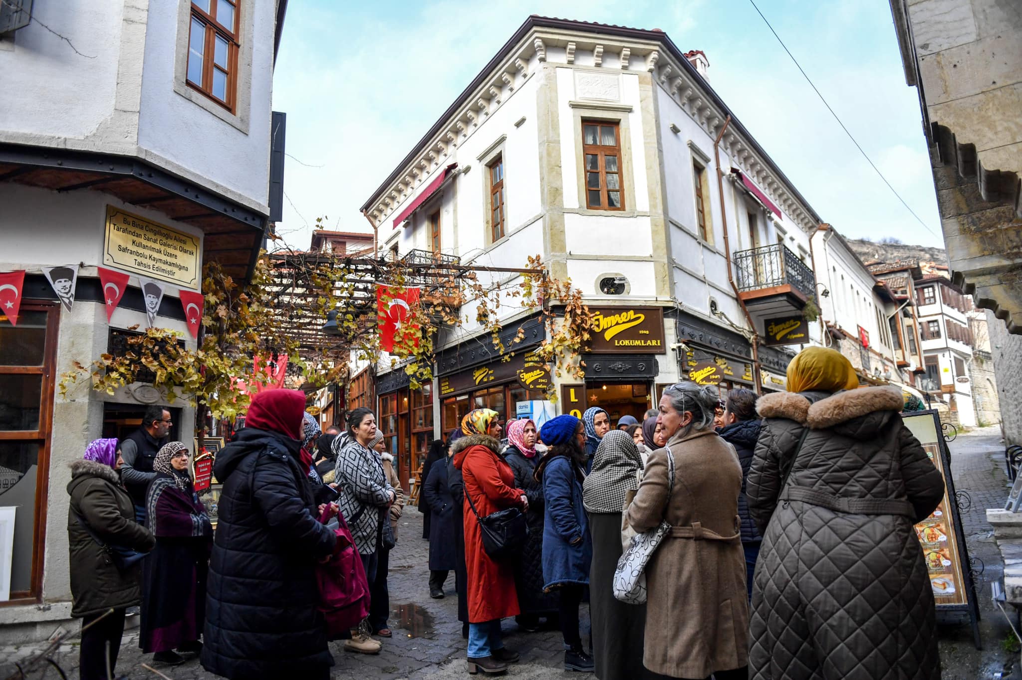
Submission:
[[[156,539],[142,561],[142,651],[170,651],[202,634],[210,539]]]

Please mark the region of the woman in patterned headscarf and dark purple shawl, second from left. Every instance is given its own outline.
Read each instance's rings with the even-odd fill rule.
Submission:
[[[174,651],[197,654],[205,621],[205,580],[213,527],[188,474],[188,448],[166,444],[152,463],[156,478],[146,493],[146,517],[156,537],[142,569],[139,646],[153,661],[177,665]]]

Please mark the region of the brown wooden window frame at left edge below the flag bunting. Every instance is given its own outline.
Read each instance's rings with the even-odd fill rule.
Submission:
[[[0,608],[31,604],[43,601],[43,573],[46,557],[46,511],[49,507],[50,442],[53,436],[53,395],[55,391],[57,340],[60,332],[60,305],[55,302],[27,300],[21,303],[19,313],[26,311],[46,312],[46,347],[40,367],[11,366],[0,368],[4,375],[43,376],[39,405],[38,430],[0,431],[0,441],[38,442],[39,464],[36,470],[36,504],[33,526],[32,576],[30,590],[12,590],[10,598],[0,602]]]

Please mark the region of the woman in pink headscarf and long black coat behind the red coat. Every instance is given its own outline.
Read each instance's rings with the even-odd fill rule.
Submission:
[[[536,481],[536,468],[543,457],[536,451],[536,423],[530,419],[508,423],[508,445],[504,459],[514,471],[514,485],[524,489],[528,498],[528,538],[515,563],[514,582],[521,614],[515,619],[518,628],[535,631],[540,617],[557,614],[557,595],[543,592],[543,484]]]

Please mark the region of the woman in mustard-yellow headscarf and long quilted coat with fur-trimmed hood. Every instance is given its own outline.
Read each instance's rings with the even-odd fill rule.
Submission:
[[[793,392],[757,404],[752,680],[940,678],[913,525],[936,508],[943,480],[901,422],[901,392],[856,386],[848,359],[812,347],[788,367]]]

